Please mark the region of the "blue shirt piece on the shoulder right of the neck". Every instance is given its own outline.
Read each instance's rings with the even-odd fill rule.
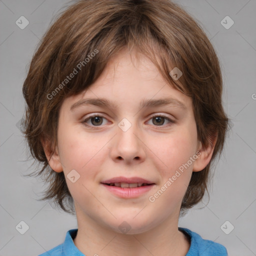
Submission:
[[[190,248],[186,256],[227,256],[226,248],[222,244],[202,239],[199,234],[188,228],[179,227],[178,229],[190,236]]]

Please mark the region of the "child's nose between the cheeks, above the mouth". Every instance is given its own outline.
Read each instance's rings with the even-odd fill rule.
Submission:
[[[120,126],[121,127],[121,126]],[[116,127],[116,135],[114,136],[110,148],[110,156],[116,161],[132,164],[139,163],[145,160],[145,143],[137,125],[131,126],[125,130]]]

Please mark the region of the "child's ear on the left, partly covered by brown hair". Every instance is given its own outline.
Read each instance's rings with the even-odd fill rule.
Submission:
[[[60,157],[58,154],[57,146],[53,148],[52,146],[52,141],[49,139],[40,139],[45,156],[48,160],[48,164],[50,167],[56,171],[56,172],[61,172],[63,171],[62,164],[60,162]]]

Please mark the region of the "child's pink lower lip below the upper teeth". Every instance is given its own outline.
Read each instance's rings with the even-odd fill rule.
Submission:
[[[106,184],[101,183],[108,191],[111,193],[121,197],[121,198],[136,198],[143,193],[148,192],[154,184],[146,185],[146,186],[139,186],[139,187],[118,187],[118,186],[109,186]]]

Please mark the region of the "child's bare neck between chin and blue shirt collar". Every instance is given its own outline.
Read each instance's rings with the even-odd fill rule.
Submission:
[[[123,256],[185,256],[190,243],[178,231],[177,222],[178,216],[176,221],[169,218],[148,231],[124,234],[110,230],[88,216],[77,217],[78,231],[73,241],[85,255],[119,256],[121,252]]]

